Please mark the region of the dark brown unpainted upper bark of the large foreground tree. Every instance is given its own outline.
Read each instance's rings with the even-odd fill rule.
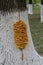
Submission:
[[[25,0],[0,0],[0,11],[12,11],[18,9],[25,9]]]

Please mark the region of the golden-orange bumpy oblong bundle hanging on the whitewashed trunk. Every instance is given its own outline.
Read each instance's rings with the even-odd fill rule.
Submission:
[[[19,20],[13,25],[13,30],[16,47],[24,49],[28,43],[26,24],[22,20]]]

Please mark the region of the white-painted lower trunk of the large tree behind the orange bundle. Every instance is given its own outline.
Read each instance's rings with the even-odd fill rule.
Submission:
[[[16,48],[13,39],[13,24],[18,21],[18,12],[1,15],[0,20],[0,65],[43,65],[43,57],[35,51],[27,11],[20,12],[20,19],[27,25],[28,45],[22,52]]]

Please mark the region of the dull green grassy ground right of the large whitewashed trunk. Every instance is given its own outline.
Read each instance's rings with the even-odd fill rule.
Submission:
[[[35,9],[34,14],[29,15],[29,23],[35,49],[43,56],[43,23],[40,21],[39,12],[40,9]]]

